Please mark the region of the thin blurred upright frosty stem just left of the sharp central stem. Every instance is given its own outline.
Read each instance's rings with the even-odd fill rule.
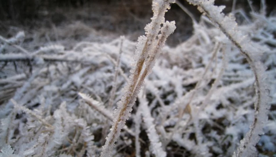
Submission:
[[[121,60],[121,55],[122,55],[123,40],[124,40],[124,37],[121,37],[120,50],[119,50],[119,55],[118,55],[117,62],[116,62],[114,80],[113,80],[112,90],[110,92],[110,99],[109,99],[109,103],[108,103],[109,108],[112,108],[112,104],[113,104],[114,97],[115,97],[115,92],[117,89],[117,76],[119,74],[119,69],[120,69],[120,60]]]

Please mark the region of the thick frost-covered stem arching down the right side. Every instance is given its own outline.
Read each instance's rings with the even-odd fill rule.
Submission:
[[[255,117],[250,126],[250,130],[246,133],[245,138],[241,140],[238,151],[233,157],[254,156],[256,153],[255,144],[259,141],[259,135],[263,134],[263,126],[267,121],[268,96],[265,84],[266,76],[264,74],[265,67],[259,61],[260,49],[252,45],[252,41],[237,27],[237,23],[233,15],[224,16],[221,11],[224,7],[214,6],[214,0],[187,0],[189,3],[198,6],[198,10],[206,14],[206,16],[217,25],[218,28],[232,41],[240,50],[250,64],[255,75],[255,90],[257,101],[255,102]],[[256,46],[258,46],[255,43]]]

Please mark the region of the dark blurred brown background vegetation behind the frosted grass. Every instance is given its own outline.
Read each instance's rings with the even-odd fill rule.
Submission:
[[[196,7],[179,0],[196,18],[200,13]],[[130,40],[137,40],[144,34],[144,26],[152,16],[151,0],[0,0],[0,35],[10,37],[11,26],[24,31],[51,28],[80,21],[96,31],[106,31],[119,35],[133,34]],[[260,0],[252,0],[255,10],[260,8]],[[266,0],[267,14],[276,6],[275,0]],[[226,5],[225,13],[232,8],[232,0],[216,0],[218,5]],[[237,0],[236,8],[242,8],[248,15],[247,0]],[[250,16],[250,15],[249,15]],[[166,14],[169,21],[175,20],[177,29],[168,44],[175,46],[187,40],[193,32],[190,17],[176,4]]]

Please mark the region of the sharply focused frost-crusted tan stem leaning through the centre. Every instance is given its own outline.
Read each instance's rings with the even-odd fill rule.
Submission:
[[[139,93],[141,86],[144,84],[144,79],[146,75],[150,72],[154,64],[151,64],[149,60],[154,61],[157,55],[153,55],[154,59],[147,60],[147,67],[144,70],[143,76],[140,77],[140,73],[146,58],[148,58],[148,54],[150,52],[155,52],[155,50],[159,50],[164,44],[156,45],[155,38],[158,36],[158,32],[160,31],[160,25],[164,23],[164,15],[167,9],[170,8],[169,3],[171,0],[154,0],[153,1],[153,18],[152,22],[145,27],[146,36],[141,36],[138,38],[137,49],[135,51],[135,67],[133,67],[130,72],[130,79],[128,85],[123,88],[123,97],[121,101],[117,103],[117,110],[114,110],[114,120],[112,124],[112,128],[110,129],[110,133],[107,135],[105,145],[103,146],[103,151],[101,153],[101,157],[110,156],[111,151],[114,147],[114,143],[117,141],[121,129],[125,126],[125,122],[130,116],[130,112],[132,111],[132,106],[134,105],[137,94]],[[166,29],[167,32],[164,32],[164,36],[168,37],[171,33],[173,33],[175,29],[174,23],[165,24],[168,26]],[[163,30],[165,30],[166,26],[163,25]],[[162,30],[161,30],[162,31]],[[160,36],[160,35],[159,35]],[[161,37],[161,36],[160,36]],[[160,40],[159,37],[159,40]],[[166,41],[166,40],[162,40]],[[157,47],[156,47],[157,46]],[[139,80],[139,81],[138,81]]]

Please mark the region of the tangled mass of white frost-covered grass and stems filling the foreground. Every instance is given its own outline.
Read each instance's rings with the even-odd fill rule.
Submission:
[[[276,156],[276,17],[187,1],[202,16],[176,47],[173,0],[153,0],[137,43],[0,36],[0,157]]]

